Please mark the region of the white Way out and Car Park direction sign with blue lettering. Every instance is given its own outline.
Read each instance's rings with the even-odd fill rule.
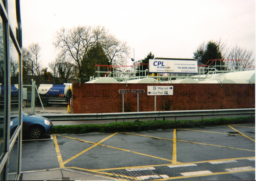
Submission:
[[[173,86],[148,86],[148,96],[173,95]]]

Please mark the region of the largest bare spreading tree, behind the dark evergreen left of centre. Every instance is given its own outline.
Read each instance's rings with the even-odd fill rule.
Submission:
[[[61,28],[56,32],[54,45],[62,54],[67,55],[78,70],[78,78],[82,78],[84,58],[89,50],[100,44],[108,55],[109,62],[122,64],[128,48],[126,43],[120,43],[109,35],[103,26],[78,26],[76,28]],[[124,54],[121,51],[125,52]]]

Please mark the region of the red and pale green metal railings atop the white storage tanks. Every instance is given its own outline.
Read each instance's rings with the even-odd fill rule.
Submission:
[[[235,69],[231,68],[231,64],[237,65]],[[236,72],[239,71],[238,66],[242,70],[252,70],[255,66],[251,66],[247,60],[233,60],[233,59],[214,59],[209,60],[205,65],[198,65],[197,75],[195,74],[179,74],[179,73],[162,73],[162,74],[150,74],[148,63],[134,63],[133,65],[95,65],[97,67],[97,77],[100,78],[100,74],[104,73],[103,77],[112,77],[117,81],[128,81],[134,79],[141,79],[146,77],[152,77],[159,81],[170,81],[176,79],[207,79],[211,78],[213,74]],[[108,67],[107,71],[100,71],[101,67]],[[234,68],[234,66],[233,66]],[[139,75],[139,76],[137,76]]]

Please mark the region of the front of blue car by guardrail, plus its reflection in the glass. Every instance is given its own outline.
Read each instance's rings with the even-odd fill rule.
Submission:
[[[18,126],[19,118],[13,118],[10,121],[10,133],[14,133]],[[31,139],[37,139],[42,137],[44,133],[49,132],[52,129],[51,120],[34,114],[27,114],[23,112],[23,121],[22,121],[22,134],[28,136]]]

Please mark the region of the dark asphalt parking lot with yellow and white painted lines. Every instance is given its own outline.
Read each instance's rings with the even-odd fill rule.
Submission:
[[[255,124],[56,134],[22,142],[22,171],[52,168],[125,180],[255,180]]]

